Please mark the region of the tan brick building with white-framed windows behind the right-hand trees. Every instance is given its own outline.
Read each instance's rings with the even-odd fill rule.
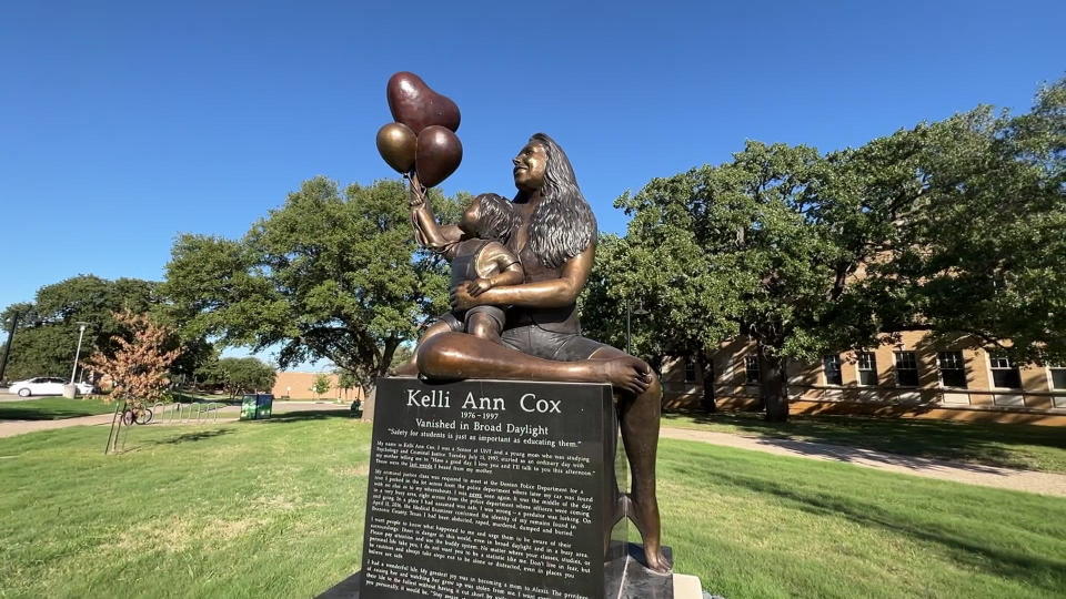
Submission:
[[[921,331],[902,333],[897,341],[790,366],[792,414],[1066,426],[1066,365],[1017,365],[994,351],[936,347]],[[712,368],[718,409],[760,407],[762,365],[753,343],[722,344]],[[702,408],[703,375],[692,361],[664,363],[664,406]]]

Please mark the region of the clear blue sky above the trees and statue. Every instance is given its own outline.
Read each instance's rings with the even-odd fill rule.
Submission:
[[[224,6],[220,6],[224,4]],[[544,131],[605,231],[744,140],[858,145],[1066,74],[1066,2],[18,2],[0,19],[0,306],[79,273],[159,280],[300,182],[394,173],[384,85],[459,104],[442,185],[510,195]]]

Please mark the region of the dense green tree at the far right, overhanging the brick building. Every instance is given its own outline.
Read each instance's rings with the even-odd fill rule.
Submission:
[[[1066,79],[1028,113],[980,106],[857,154],[908,209],[872,268],[886,321],[1066,361]]]

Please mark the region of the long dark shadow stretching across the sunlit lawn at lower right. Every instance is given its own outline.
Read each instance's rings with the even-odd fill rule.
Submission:
[[[797,509],[818,516],[844,517],[866,527],[883,528],[905,537],[935,544],[958,562],[975,570],[984,570],[997,577],[1025,580],[1052,593],[1060,592],[1066,583],[1066,560],[1050,559],[1035,555],[1022,555],[1022,551],[1004,550],[996,544],[980,538],[985,528],[959,528],[945,526],[932,518],[922,518],[921,514],[893,512],[873,502],[862,502],[848,498],[837,498],[821,494],[803,493],[795,487],[748,477],[717,473],[715,475],[737,487],[760,494],[770,494],[794,505]],[[968,531],[974,534],[969,535]],[[985,532],[994,535],[994,532]],[[1033,549],[1035,551],[1037,549]]]

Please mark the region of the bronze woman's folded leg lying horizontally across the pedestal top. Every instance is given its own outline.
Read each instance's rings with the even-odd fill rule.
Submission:
[[[647,389],[653,376],[644,362],[627,355],[556,362],[463,333],[434,335],[419,344],[415,353],[419,370],[435,378],[610,383],[615,388],[641,394]]]

